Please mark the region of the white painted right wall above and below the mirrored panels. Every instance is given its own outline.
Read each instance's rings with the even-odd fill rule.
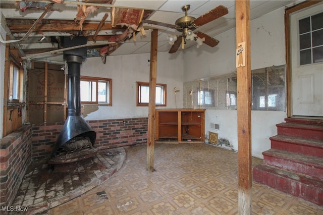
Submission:
[[[250,22],[251,69],[286,64],[284,8]],[[184,82],[219,76],[236,71],[236,29],[216,37],[216,48],[202,45],[184,50]],[[194,59],[194,60],[193,60]],[[206,110],[205,132],[212,131],[210,123],[220,124],[219,138],[226,138],[238,149],[237,112]],[[277,134],[276,124],[284,121],[285,112],[252,111],[252,155],[262,158],[261,152],[270,149],[269,137]]]

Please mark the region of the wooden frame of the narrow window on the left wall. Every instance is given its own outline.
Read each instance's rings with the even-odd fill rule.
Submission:
[[[8,101],[10,103],[22,103],[23,102],[23,88],[24,88],[24,71],[21,66],[11,62],[9,66],[9,90],[8,90]],[[18,81],[14,83],[14,68],[17,69],[18,72]],[[17,86],[18,84],[18,86]],[[17,98],[14,98],[14,88],[17,86]]]

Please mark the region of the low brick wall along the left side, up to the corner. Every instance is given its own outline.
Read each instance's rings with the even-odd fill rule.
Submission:
[[[31,162],[31,125],[25,125],[0,141],[1,206],[10,206]]]

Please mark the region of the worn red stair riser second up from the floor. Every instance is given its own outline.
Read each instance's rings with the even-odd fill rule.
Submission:
[[[272,157],[263,155],[263,162],[268,166],[277,167],[295,173],[301,173],[313,178],[323,180],[323,167],[309,166],[308,164],[295,163],[293,160],[288,160],[280,157]]]

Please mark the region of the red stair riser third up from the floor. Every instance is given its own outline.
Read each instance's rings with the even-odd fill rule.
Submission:
[[[322,144],[323,145],[323,144]],[[300,145],[290,142],[271,140],[271,147],[274,149],[296,152],[300,154],[323,157],[323,148],[316,148],[309,145]]]

